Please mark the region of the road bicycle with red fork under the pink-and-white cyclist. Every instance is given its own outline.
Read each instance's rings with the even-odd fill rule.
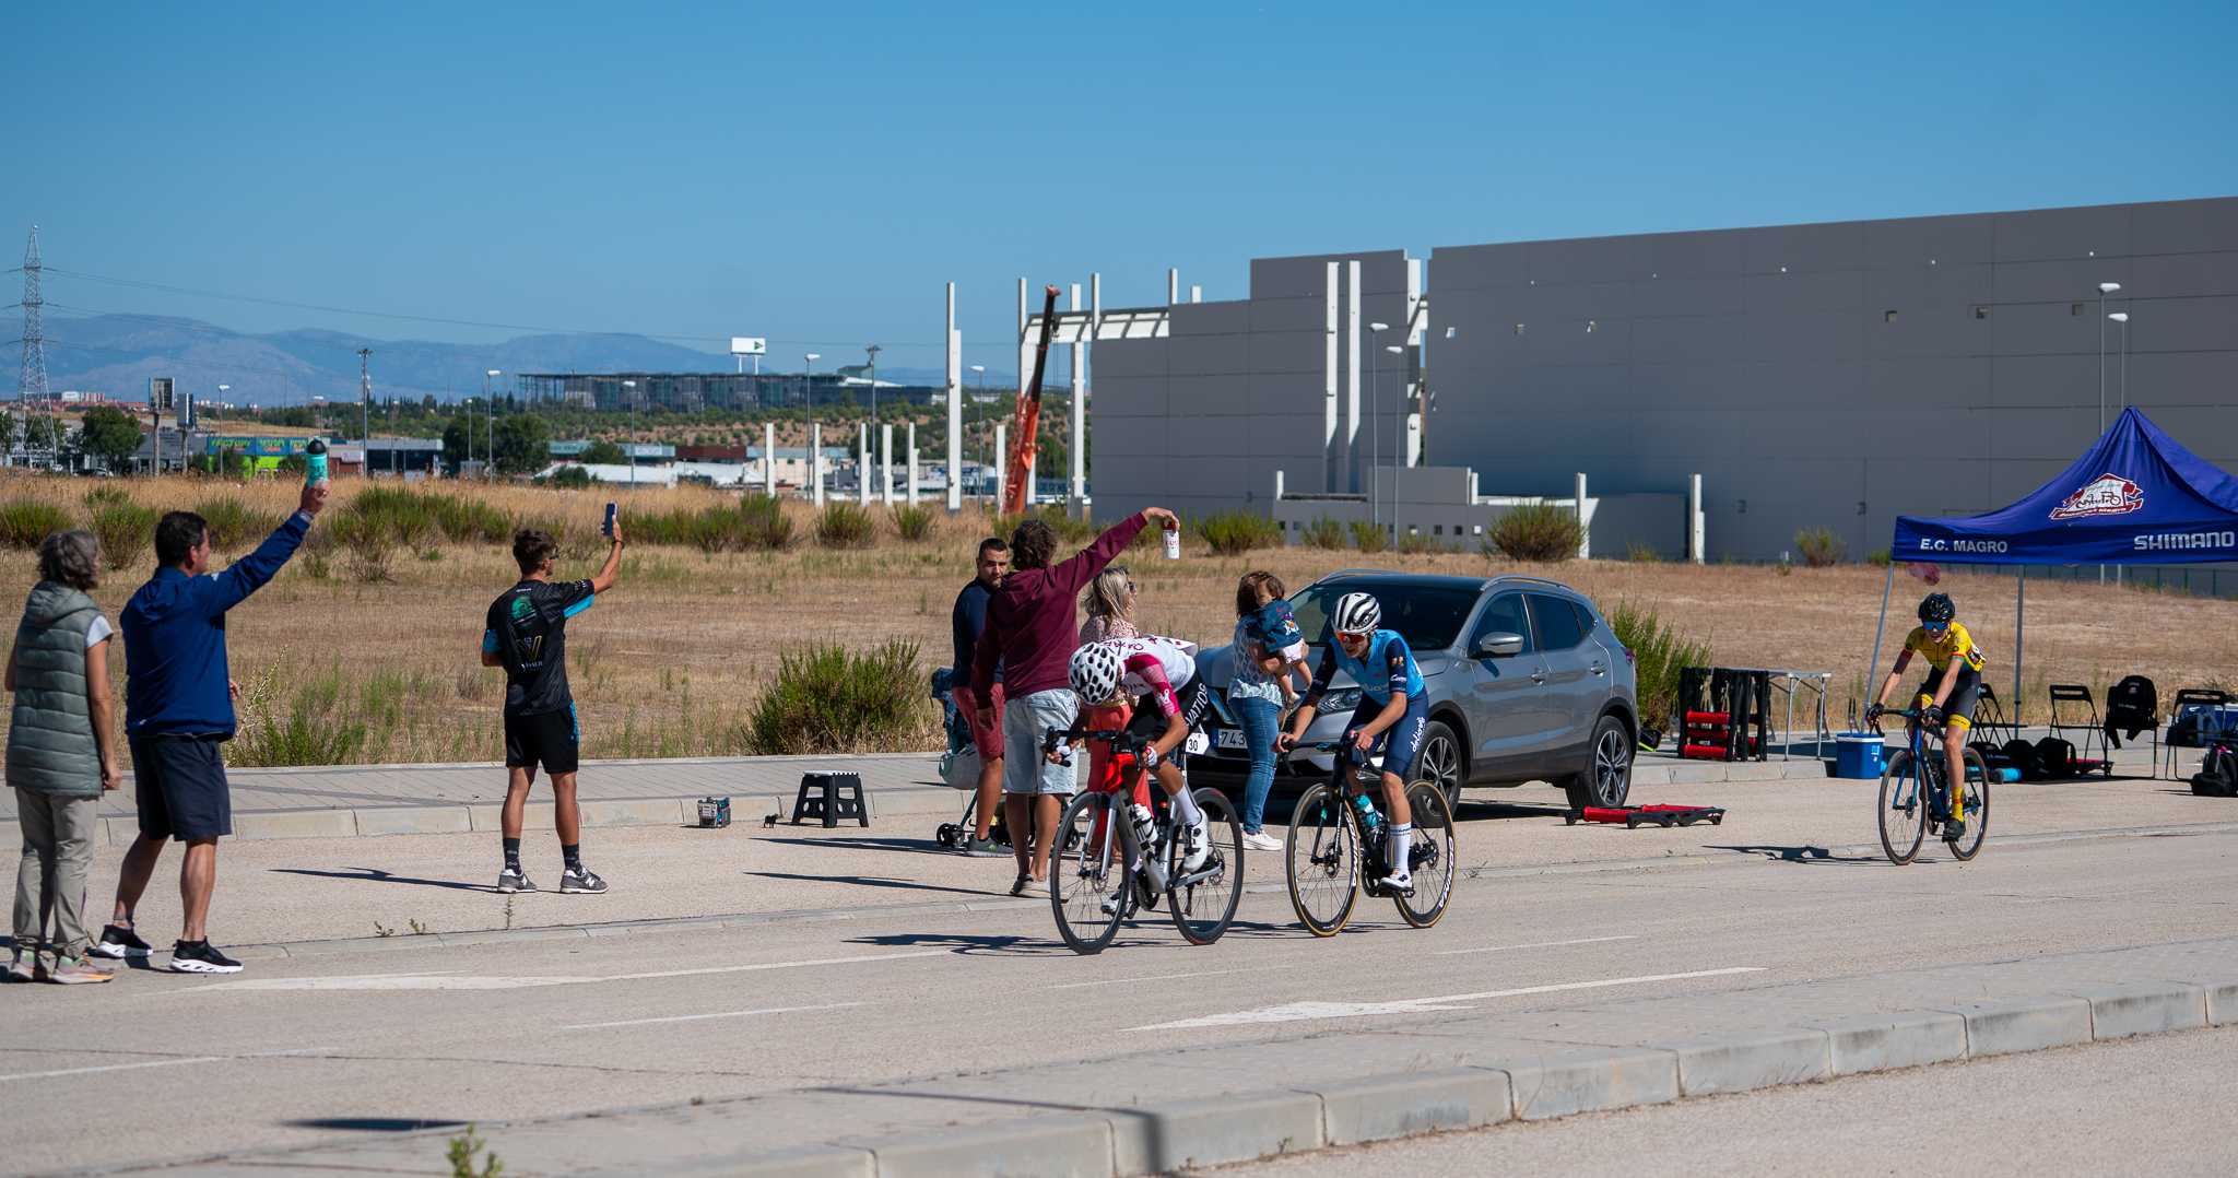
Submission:
[[[1050,728],[1041,748],[1054,752],[1065,741],[1110,746],[1103,779],[1090,782],[1056,820],[1050,909],[1065,945],[1076,954],[1103,952],[1137,907],[1155,909],[1159,898],[1184,941],[1220,941],[1244,898],[1244,826],[1235,806],[1217,791],[1193,791],[1213,851],[1200,869],[1184,871],[1184,847],[1166,791],[1146,788],[1141,750],[1153,737],[1121,728]],[[1144,795],[1155,802],[1155,833],[1148,842],[1137,838],[1128,820],[1128,802]]]

